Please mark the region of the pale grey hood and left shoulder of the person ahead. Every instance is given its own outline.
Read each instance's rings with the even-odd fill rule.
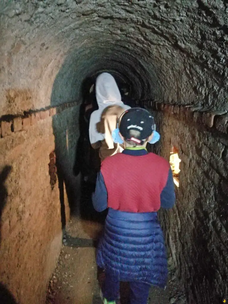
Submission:
[[[105,134],[98,133],[96,127],[97,123],[101,120],[101,114],[105,108],[114,104],[119,105],[126,110],[130,108],[121,101],[119,88],[111,74],[100,74],[96,79],[95,90],[99,109],[92,112],[90,116],[89,139],[91,144],[105,139]]]

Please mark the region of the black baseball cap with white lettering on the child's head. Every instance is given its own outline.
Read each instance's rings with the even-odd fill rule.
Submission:
[[[143,140],[151,135],[155,127],[154,117],[150,112],[142,108],[131,108],[123,113],[119,132],[126,140],[143,144]],[[140,131],[140,136],[133,138],[130,135],[130,130]]]

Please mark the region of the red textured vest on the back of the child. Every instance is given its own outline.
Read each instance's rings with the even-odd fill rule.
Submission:
[[[108,207],[125,212],[155,212],[166,185],[170,165],[154,153],[132,156],[117,153],[101,165]]]

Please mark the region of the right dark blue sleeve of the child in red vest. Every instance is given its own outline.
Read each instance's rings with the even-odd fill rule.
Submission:
[[[167,182],[161,192],[160,199],[162,208],[169,209],[174,206],[176,196],[174,191],[174,181],[171,168],[169,169]]]

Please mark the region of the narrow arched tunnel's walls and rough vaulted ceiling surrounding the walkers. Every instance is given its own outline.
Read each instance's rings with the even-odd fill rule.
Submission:
[[[102,223],[77,151],[83,83],[103,71],[126,104],[153,111],[150,148],[167,160],[178,149],[176,206],[159,218],[187,302],[228,301],[227,23],[221,0],[1,2],[0,277],[15,302],[45,302],[65,229],[93,246],[86,221],[95,234]]]

